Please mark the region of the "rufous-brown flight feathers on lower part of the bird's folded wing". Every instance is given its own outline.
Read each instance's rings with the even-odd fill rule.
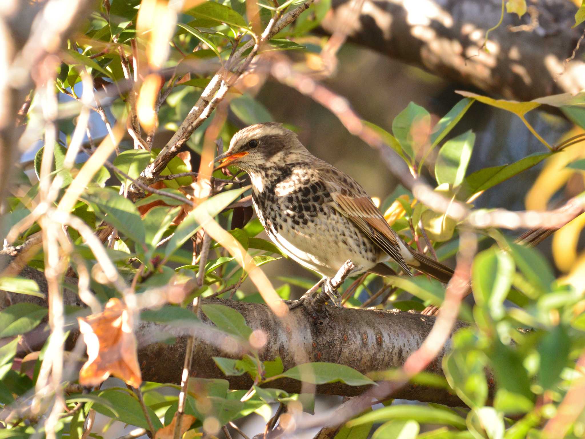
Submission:
[[[390,228],[378,208],[372,203],[370,197],[350,197],[339,193],[332,193],[335,208],[346,217],[350,218],[357,227],[374,241],[378,247],[388,253],[398,265],[412,276],[410,269],[400,253],[400,245],[397,236]]]

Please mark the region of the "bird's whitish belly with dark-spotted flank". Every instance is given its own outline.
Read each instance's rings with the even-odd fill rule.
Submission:
[[[380,259],[374,243],[338,212],[315,215],[305,212],[298,217],[276,208],[273,212],[257,210],[257,214],[281,251],[323,276],[334,276],[347,259],[360,267],[360,272],[373,267]]]

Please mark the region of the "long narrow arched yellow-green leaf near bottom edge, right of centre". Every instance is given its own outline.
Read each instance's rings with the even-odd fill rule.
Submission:
[[[436,407],[415,405],[391,405],[374,410],[371,413],[349,421],[347,426],[357,426],[368,422],[389,421],[393,419],[409,419],[424,424],[446,424],[460,430],[466,428],[465,420],[449,410]]]

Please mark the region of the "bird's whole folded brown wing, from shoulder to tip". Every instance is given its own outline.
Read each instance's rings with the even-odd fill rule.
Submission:
[[[318,172],[328,184],[333,198],[332,207],[350,218],[380,249],[388,253],[398,265],[412,276],[401,253],[400,238],[390,228],[366,191],[351,177],[328,163],[322,162]]]

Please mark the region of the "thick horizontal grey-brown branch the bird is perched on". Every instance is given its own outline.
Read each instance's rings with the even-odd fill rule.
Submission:
[[[0,254],[0,268],[9,263],[11,256]],[[39,270],[25,267],[20,276],[36,280],[41,292],[46,294],[46,280]],[[70,279],[74,281],[73,279]],[[0,291],[0,311],[11,304],[22,301],[47,306],[46,300],[25,294]],[[77,294],[65,290],[64,300],[68,305],[80,306]],[[304,307],[295,308],[286,319],[274,315],[264,304],[246,303],[235,300],[209,299],[203,303],[222,304],[237,310],[253,330],[266,335],[266,344],[259,349],[262,361],[274,360],[277,356],[283,361],[284,370],[305,362],[332,362],[350,366],[357,371],[385,371],[400,368],[412,352],[417,350],[435,322],[435,317],[415,312],[388,311],[355,308],[328,307],[326,317],[309,315]],[[138,356],[143,380],[160,383],[180,383],[183,368],[187,335],[194,334],[195,345],[192,360],[192,375],[198,378],[223,378],[229,381],[230,389],[249,389],[252,379],[247,375],[226,377],[215,365],[214,356],[242,358],[242,350],[231,337],[223,332],[214,331],[212,324],[199,312],[201,325],[178,326],[142,321],[135,328],[138,342]],[[456,329],[464,326],[457,322]],[[40,325],[29,332],[22,342],[19,356],[28,352],[26,348],[39,350],[49,332]],[[78,333],[71,336],[68,348],[73,348]],[[174,338],[172,344],[168,339]],[[450,344],[428,366],[428,372],[442,375],[441,361],[449,350]],[[342,383],[331,383],[315,387],[302,387],[293,379],[278,379],[267,383],[267,387],[283,389],[286,392],[315,392],[328,395],[354,396],[363,393],[369,386],[353,387]],[[398,399],[435,402],[448,406],[464,406],[456,395],[445,389],[408,384],[390,397]]]

